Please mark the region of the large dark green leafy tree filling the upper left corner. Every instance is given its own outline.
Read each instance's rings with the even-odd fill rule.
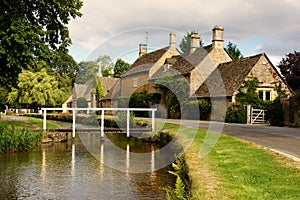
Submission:
[[[0,84],[17,85],[18,74],[50,63],[71,44],[68,22],[81,16],[82,1],[1,1]]]

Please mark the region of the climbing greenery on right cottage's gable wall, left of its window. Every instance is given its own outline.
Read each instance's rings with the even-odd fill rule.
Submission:
[[[236,95],[236,101],[240,105],[251,105],[254,108],[264,108],[264,101],[259,98],[256,88],[259,85],[259,80],[253,78],[244,81],[244,84],[239,88],[239,93]]]

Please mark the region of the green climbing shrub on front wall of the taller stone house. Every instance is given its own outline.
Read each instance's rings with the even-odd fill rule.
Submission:
[[[156,86],[163,93],[164,101],[168,109],[168,118],[180,117],[180,103],[187,101],[189,97],[189,85],[187,81],[177,80],[171,75],[165,75],[156,80]]]

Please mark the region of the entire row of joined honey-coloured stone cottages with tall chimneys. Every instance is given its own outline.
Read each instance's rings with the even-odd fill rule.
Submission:
[[[129,98],[134,92],[147,91],[159,94],[154,87],[155,81],[165,74],[176,79],[186,80],[190,86],[190,98],[213,99],[216,105],[220,99],[226,100],[226,106],[234,103],[235,96],[245,80],[258,78],[257,92],[263,100],[274,100],[277,88],[281,84],[288,96],[293,91],[283,80],[265,53],[233,61],[224,48],[224,28],[212,29],[212,43],[200,47],[200,36],[193,34],[190,52],[182,54],[176,49],[175,34],[170,33],[169,46],[153,52],[147,52],[145,44],[140,45],[139,58],[121,76],[118,84],[103,101],[111,101],[116,107],[119,97]],[[163,98],[159,103],[162,106]],[[102,102],[102,101],[101,101]],[[223,103],[222,103],[223,104]],[[218,107],[218,106],[215,106]],[[216,116],[222,118],[224,116]]]

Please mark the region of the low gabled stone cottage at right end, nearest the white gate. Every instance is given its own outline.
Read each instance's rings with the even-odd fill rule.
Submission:
[[[286,95],[293,91],[278,73],[265,53],[221,63],[195,92],[198,98],[226,97],[227,105],[235,102],[235,96],[245,80],[257,78],[257,92],[262,100],[278,97],[277,88],[281,84]]]

